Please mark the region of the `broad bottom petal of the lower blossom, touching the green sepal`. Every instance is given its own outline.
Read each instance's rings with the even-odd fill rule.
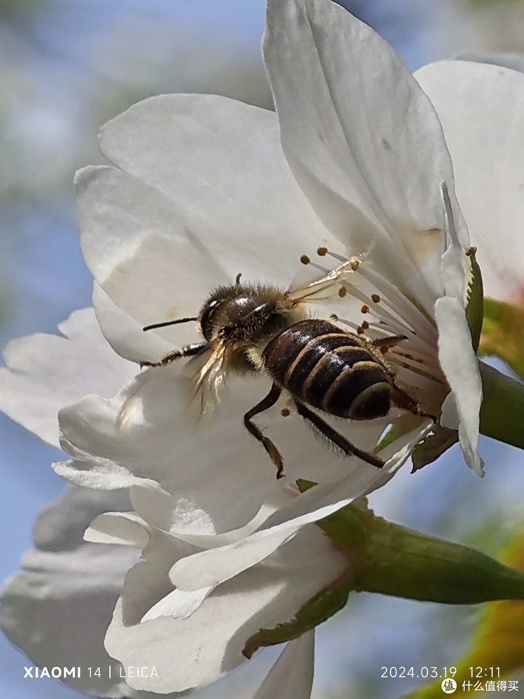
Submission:
[[[137,574],[128,575],[108,629],[105,646],[112,656],[125,666],[157,668],[158,678],[130,677],[135,689],[184,691],[219,679],[244,661],[242,648],[253,633],[291,619],[345,566],[321,531],[307,527],[270,556],[267,565],[260,563],[220,585],[189,619],[138,623],[152,601],[172,591],[166,568],[174,562],[163,549],[155,561],[148,558],[131,571]],[[159,570],[165,571],[165,587],[159,582],[152,593],[147,586],[159,580]]]

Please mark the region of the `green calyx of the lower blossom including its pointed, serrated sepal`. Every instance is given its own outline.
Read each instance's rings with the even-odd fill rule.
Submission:
[[[300,491],[314,487],[308,481],[297,484]],[[347,557],[346,574],[316,593],[290,621],[250,637],[245,656],[318,626],[342,609],[351,591],[456,605],[524,599],[524,573],[470,547],[376,517],[365,505],[348,505],[317,524]]]

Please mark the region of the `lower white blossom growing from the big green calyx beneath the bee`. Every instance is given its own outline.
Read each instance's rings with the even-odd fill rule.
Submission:
[[[266,517],[272,509],[268,505]],[[187,541],[134,513],[97,517],[87,540],[143,549],[126,575],[105,647],[124,667],[154,666],[158,676],[128,677],[128,684],[164,693],[214,682],[245,661],[242,650],[260,628],[289,621],[349,572],[349,556],[337,553],[319,528],[307,526],[313,519],[272,524],[273,515],[254,533],[248,526]],[[308,664],[306,683],[311,654]]]

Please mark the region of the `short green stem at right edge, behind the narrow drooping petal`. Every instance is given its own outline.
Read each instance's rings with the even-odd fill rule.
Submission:
[[[483,401],[480,432],[524,449],[524,383],[479,362]]]

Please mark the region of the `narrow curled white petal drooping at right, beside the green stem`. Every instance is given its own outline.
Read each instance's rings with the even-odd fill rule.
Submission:
[[[460,417],[458,437],[468,466],[483,475],[479,444],[482,382],[479,362],[471,344],[464,307],[457,298],[444,296],[435,305],[439,329],[439,361],[449,382]]]

